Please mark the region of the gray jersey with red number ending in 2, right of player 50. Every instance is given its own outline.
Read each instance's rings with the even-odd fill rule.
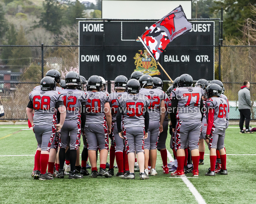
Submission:
[[[148,113],[150,121],[160,120],[160,104],[165,99],[165,93],[160,89],[140,89],[140,94],[147,96],[150,100]]]

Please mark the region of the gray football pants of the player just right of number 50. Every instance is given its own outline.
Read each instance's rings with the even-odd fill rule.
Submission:
[[[148,126],[148,138],[145,139],[145,149],[156,149],[158,137],[159,137],[160,122],[149,121]]]

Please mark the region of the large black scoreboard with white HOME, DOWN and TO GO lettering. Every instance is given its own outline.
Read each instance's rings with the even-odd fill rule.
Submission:
[[[192,30],[169,43],[159,63],[174,80],[214,79],[214,21],[190,21]],[[99,75],[128,79],[134,71],[169,80],[138,40],[155,21],[79,21],[79,70],[86,79]]]

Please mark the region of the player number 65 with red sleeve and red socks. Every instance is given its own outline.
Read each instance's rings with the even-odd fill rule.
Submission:
[[[221,169],[217,174],[227,175],[226,151],[224,149],[224,138],[226,130],[227,102],[221,98],[222,88],[218,84],[211,83],[205,90],[207,115],[206,138],[209,139],[211,167],[205,174],[215,176],[215,163],[217,159],[216,149],[220,153]]]

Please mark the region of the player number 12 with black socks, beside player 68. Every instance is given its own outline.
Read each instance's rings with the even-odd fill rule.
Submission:
[[[65,76],[67,89],[63,89],[60,93],[64,96],[64,105],[67,109],[66,120],[64,126],[61,130],[60,138],[60,170],[56,175],[56,178],[64,178],[64,162],[65,162],[65,150],[69,142],[70,147],[70,171],[69,179],[81,179],[82,175],[76,172],[76,160],[77,160],[77,149],[80,143],[81,131],[84,130],[84,124],[86,119],[85,113],[85,102],[87,101],[87,96],[84,91],[80,91],[77,86],[80,85],[80,77],[77,72],[68,72]]]

